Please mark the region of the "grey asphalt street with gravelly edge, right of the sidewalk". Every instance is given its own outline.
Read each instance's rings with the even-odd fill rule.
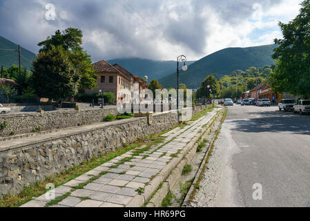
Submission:
[[[192,206],[310,206],[310,115],[228,108]]]

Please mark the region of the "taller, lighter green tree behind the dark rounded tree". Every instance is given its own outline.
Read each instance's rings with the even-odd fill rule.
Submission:
[[[75,68],[79,76],[79,89],[92,89],[97,87],[96,71],[91,64],[90,55],[81,48],[83,34],[77,28],[67,28],[62,33],[60,30],[55,35],[49,36],[45,41],[39,42],[38,46],[43,46],[39,52],[48,52],[55,46],[61,46],[68,52],[68,59]]]

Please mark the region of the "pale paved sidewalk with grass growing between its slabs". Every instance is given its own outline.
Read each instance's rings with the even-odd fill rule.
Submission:
[[[161,144],[151,146],[148,151],[135,153],[141,146],[113,160],[97,166],[74,180],[58,186],[55,197],[67,194],[68,197],[50,207],[119,207],[130,203],[139,190],[162,171],[164,166],[176,157],[192,138],[202,130],[210,119],[219,111],[215,108],[195,122],[187,122],[183,128],[177,127],[162,135]],[[93,178],[93,179],[92,179]],[[96,178],[96,179],[94,179]],[[91,182],[89,180],[92,179]],[[86,185],[85,185],[86,184]],[[79,187],[78,187],[79,186]],[[41,195],[21,207],[42,207],[50,200]],[[69,195],[70,194],[70,195]]]

